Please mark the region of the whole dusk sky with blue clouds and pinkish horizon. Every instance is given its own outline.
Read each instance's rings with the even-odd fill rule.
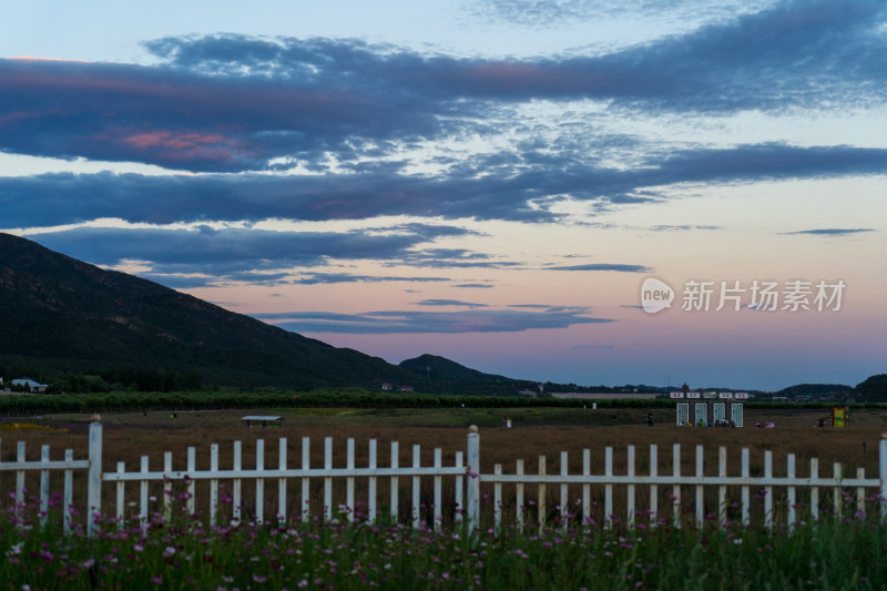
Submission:
[[[856,385],[887,371],[885,194],[883,0],[0,22],[0,232],[391,363]]]

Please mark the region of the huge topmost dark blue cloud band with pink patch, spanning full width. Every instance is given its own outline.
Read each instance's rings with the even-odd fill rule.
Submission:
[[[227,34],[150,42],[156,65],[0,60],[0,150],[193,172],[274,170],[276,159],[324,171],[334,154],[366,172],[396,169],[378,157],[404,144],[498,131],[491,115],[533,100],[645,113],[879,105],[884,23],[881,0],[789,0],[601,55],[455,58]],[[514,162],[503,152],[486,165]]]

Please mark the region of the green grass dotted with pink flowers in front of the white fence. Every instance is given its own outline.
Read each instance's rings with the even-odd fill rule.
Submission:
[[[32,501],[31,501],[32,502]],[[0,512],[2,589],[660,589],[867,590],[887,587],[887,529],[870,518],[795,529],[604,531],[570,520],[537,528],[435,532],[357,514],[207,527],[153,516],[63,536],[31,507]],[[21,513],[20,513],[21,514]],[[33,518],[33,519],[32,519]]]

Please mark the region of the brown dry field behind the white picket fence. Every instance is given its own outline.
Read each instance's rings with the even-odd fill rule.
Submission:
[[[282,415],[283,427],[247,428],[239,418],[245,415]],[[508,415],[514,421],[514,428],[500,427],[501,417]],[[740,473],[740,450],[751,450],[752,476],[763,475],[764,451],[772,450],[774,475],[785,476],[786,455],[794,452],[797,462],[797,475],[807,476],[810,458],[819,459],[819,475],[832,476],[834,462],[844,466],[845,476],[856,476],[857,468],[864,468],[868,477],[877,477],[878,441],[887,431],[887,411],[857,410],[852,412],[849,426],[845,429],[817,428],[819,418],[826,417],[824,410],[758,410],[748,409],[745,414],[744,428],[689,428],[673,425],[674,412],[659,409],[654,411],[655,427],[646,426],[645,409],[253,409],[248,411],[194,411],[177,412],[175,418],[170,414],[115,414],[103,417],[104,456],[103,470],[112,471],[118,461],[125,461],[129,471],[136,470],[141,456],[150,458],[151,470],[160,471],[163,466],[164,451],[173,454],[173,468],[185,469],[186,449],[193,446],[197,450],[198,469],[208,469],[210,445],[220,445],[220,466],[232,466],[232,442],[243,442],[243,467],[255,467],[256,440],[265,440],[265,467],[278,463],[278,438],[287,438],[288,467],[300,467],[303,437],[310,438],[312,467],[323,466],[324,438],[334,438],[334,467],[345,467],[346,439],[356,441],[357,466],[367,465],[367,441],[378,441],[378,465],[390,466],[390,441],[398,441],[400,447],[400,466],[409,466],[412,461],[412,446],[421,446],[422,466],[432,462],[434,448],[442,448],[445,465],[452,465],[456,450],[465,450],[468,425],[478,425],[481,438],[481,469],[492,472],[495,463],[501,463],[506,473],[514,472],[516,460],[524,460],[527,473],[537,473],[538,458],[546,456],[549,473],[560,471],[560,452],[569,455],[570,473],[581,473],[582,450],[591,450],[592,473],[603,473],[604,448],[610,446],[614,452],[614,472],[625,473],[626,446],[636,449],[636,473],[650,471],[650,445],[659,446],[659,473],[672,473],[672,445],[681,444],[682,473],[695,473],[695,447],[704,446],[705,473],[717,472],[717,449],[727,448],[728,475]],[[757,420],[769,420],[776,424],[775,429],[756,429]],[[33,428],[13,428],[12,424],[35,425],[57,430],[39,430]],[[80,415],[59,415],[31,417],[22,419],[3,419],[0,422],[0,459],[14,460],[16,441],[26,441],[28,459],[39,458],[40,446],[50,445],[52,459],[62,459],[63,450],[74,449],[75,458],[84,458],[88,448],[89,417]],[[60,429],[60,430],[59,430]],[[11,475],[10,475],[11,476]],[[10,476],[0,478],[3,497],[14,481]],[[29,477],[31,478],[31,477]],[[29,480],[29,487],[35,488],[37,475]],[[425,480],[429,480],[426,482]],[[53,476],[53,490],[60,490],[60,477]],[[401,514],[408,511],[409,478],[401,477],[399,487]],[[225,486],[225,483],[223,483]],[[323,491],[320,479],[313,479],[312,496],[314,511],[319,510]],[[379,482],[380,510],[387,506],[388,479]],[[507,487],[508,488],[508,487]],[[659,487],[660,507],[669,503],[671,487]],[[665,489],[669,490],[665,490]],[[714,489],[714,487],[710,487]],[[276,480],[266,487],[267,503],[276,508]],[[527,487],[527,499],[537,498],[536,486]],[[686,487],[684,500],[692,497]],[[33,490],[33,488],[32,488]],[[422,498],[430,505],[431,482],[424,479]],[[179,491],[179,490],[177,490]],[[288,502],[296,507],[300,487],[289,483]],[[492,487],[485,487],[482,493],[492,495]],[[710,505],[714,490],[706,492],[706,506]],[[870,493],[870,492],[869,492]],[[160,486],[152,487],[152,495],[162,498]],[[358,481],[358,499],[366,498],[365,485]],[[777,491],[777,495],[782,495]],[[113,500],[113,485],[106,483],[103,493],[105,499]],[[549,485],[546,490],[549,507],[559,499],[559,486]],[[570,488],[570,499],[581,496],[580,487]],[[197,490],[198,508],[205,503],[206,492]],[[602,487],[592,491],[597,500],[603,498]],[[624,492],[616,493],[615,511],[624,511]],[[735,500],[738,490],[730,491]],[[128,485],[128,501],[137,498],[137,485]],[[778,498],[778,496],[776,497]],[[451,502],[451,486],[445,488],[445,503]],[[253,507],[255,493],[251,483],[244,486],[244,506]],[[336,488],[336,503],[344,502],[344,492]],[[489,497],[486,502],[489,502]],[[513,488],[504,495],[506,511],[513,509]],[[824,507],[830,503],[827,496],[820,501]],[[649,490],[639,487],[638,507],[649,503]],[[686,505],[686,503],[685,503]],[[689,506],[685,508],[689,509]],[[387,508],[385,509],[387,510]],[[600,516],[600,508],[597,513]],[[267,509],[267,514],[274,510]]]

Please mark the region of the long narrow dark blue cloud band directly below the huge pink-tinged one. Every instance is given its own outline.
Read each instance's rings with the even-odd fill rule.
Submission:
[[[569,161],[570,159],[568,159]],[[559,214],[533,208],[551,195],[600,203],[665,198],[656,190],[680,183],[746,183],[884,174],[887,150],[784,144],[681,150],[616,170],[570,163],[552,170],[500,171],[447,179],[376,173],[317,175],[146,176],[45,174],[0,177],[2,225],[40,227],[100,217],[126,222],[256,222],[267,218],[338,220],[377,215],[552,222]],[[427,231],[438,227],[427,226]],[[409,228],[406,228],[407,231]],[[461,231],[463,234],[469,232]],[[435,258],[431,251],[425,258]],[[473,255],[475,262],[478,255]],[[437,258],[465,255],[441,251]],[[483,265],[465,265],[483,266]]]

